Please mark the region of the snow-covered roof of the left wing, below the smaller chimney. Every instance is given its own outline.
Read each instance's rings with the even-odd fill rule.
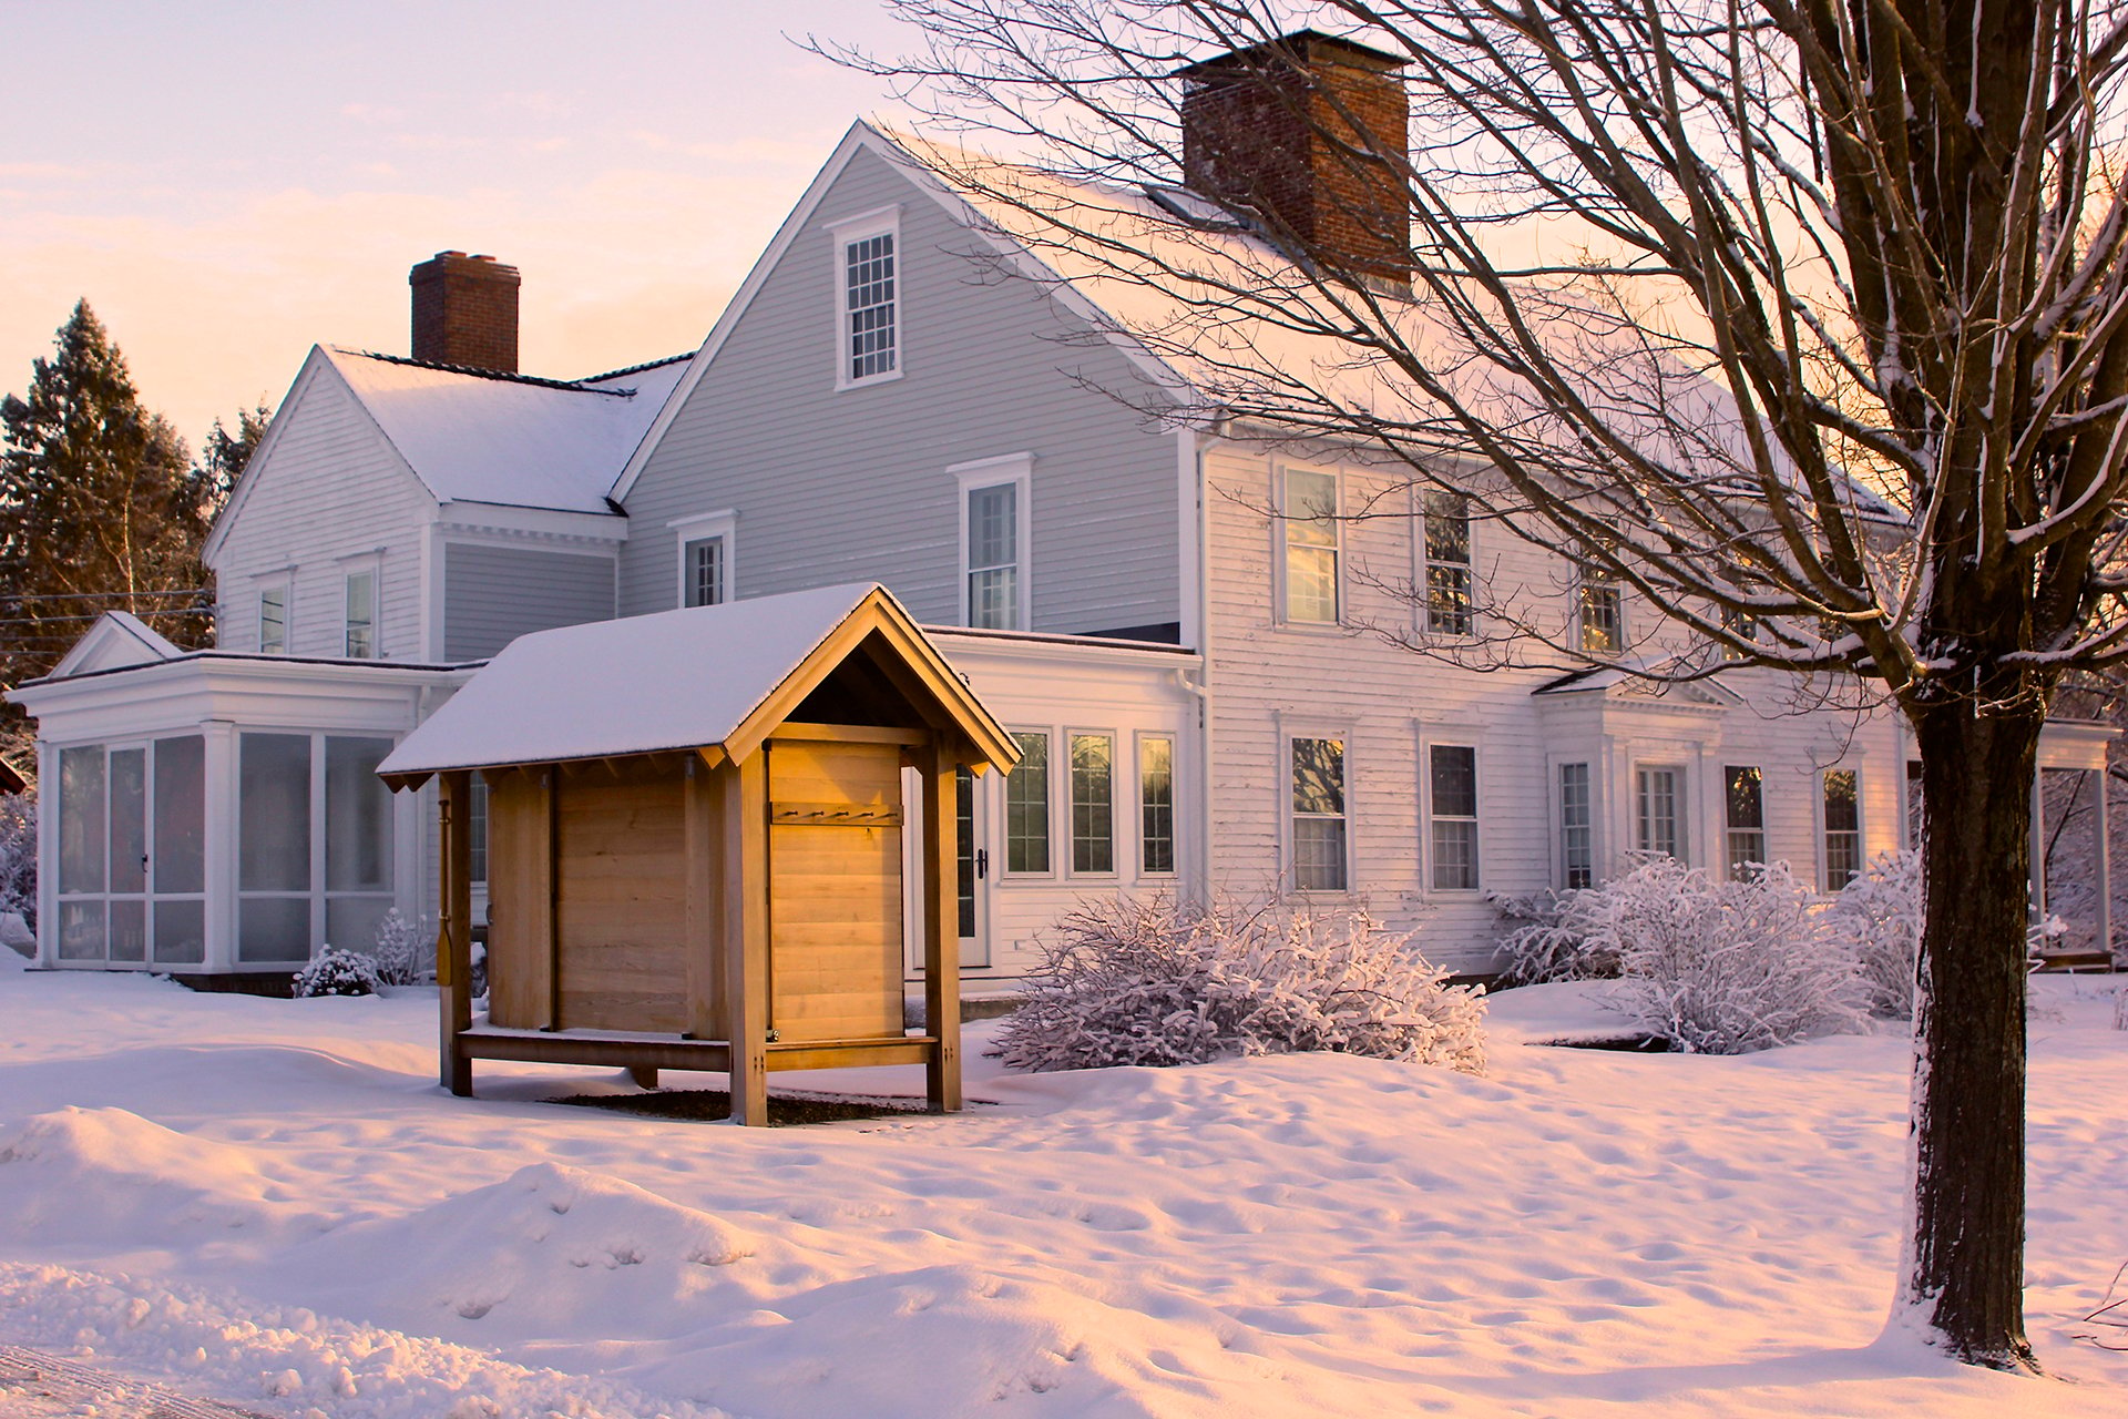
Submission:
[[[526,379],[326,347],[438,502],[613,513],[606,489],[687,355],[585,381]]]

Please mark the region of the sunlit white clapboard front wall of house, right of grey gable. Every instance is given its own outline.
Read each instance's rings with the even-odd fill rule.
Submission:
[[[1281,864],[1287,766],[1285,734],[1347,738],[1347,811],[1351,836],[1351,902],[1364,902],[1396,930],[1415,930],[1417,945],[1439,964],[1460,970],[1492,966],[1498,917],[1483,891],[1536,891],[1556,883],[1551,764],[1547,728],[1530,689],[1556,670],[1479,674],[1424,660],[1364,632],[1281,628],[1273,621],[1277,542],[1262,513],[1279,460],[1236,445],[1204,457],[1209,521],[1209,677],[1213,689],[1213,883],[1262,889]],[[1330,470],[1336,462],[1307,460]],[[1381,489],[1385,474],[1343,468],[1345,506],[1356,491]],[[1392,494],[1385,508],[1409,506]],[[1409,625],[1413,611],[1385,591],[1360,585],[1366,566],[1385,581],[1413,577],[1409,517],[1345,525],[1347,615]],[[1473,528],[1473,560],[1481,579],[1524,585],[1560,598],[1564,562],[1511,540],[1483,521]],[[1649,615],[1628,604],[1628,634]],[[1858,725],[1851,715],[1788,715],[1773,689],[1783,677],[1732,672],[1724,681],[1751,696],[1756,708],[1728,711],[1722,764],[1758,764],[1766,772],[1768,855],[1790,859],[1817,883],[1817,781],[1826,764],[1853,755],[1862,772],[1864,855],[1898,847],[1900,777],[1905,772],[1890,715]],[[1473,891],[1430,891],[1424,877],[1422,738],[1477,745],[1479,753],[1479,883]],[[1583,757],[1583,755],[1575,755]],[[1600,770],[1592,770],[1600,772]],[[1715,785],[1688,781],[1694,866],[1717,862]],[[1605,804],[1628,828],[1630,804]],[[1613,842],[1615,847],[1615,842]],[[1605,864],[1598,864],[1598,872]]]

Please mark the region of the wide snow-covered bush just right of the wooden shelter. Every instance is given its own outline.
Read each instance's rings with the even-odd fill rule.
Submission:
[[[1485,1068],[1483,994],[1364,913],[1168,896],[1083,902],[998,1032],[1015,1070],[1343,1051]]]

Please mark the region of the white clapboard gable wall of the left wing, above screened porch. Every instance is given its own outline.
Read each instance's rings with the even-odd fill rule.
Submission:
[[[421,538],[436,504],[323,360],[275,419],[287,432],[215,557],[217,645],[255,651],[257,577],[294,568],[289,653],[343,655],[340,560],[381,547],[377,655],[419,660]]]

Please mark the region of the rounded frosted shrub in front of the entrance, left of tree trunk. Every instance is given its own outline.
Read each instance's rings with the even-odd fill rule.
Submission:
[[[1788,864],[1711,881],[1662,857],[1583,896],[1592,938],[1617,951],[1611,1002],[1675,1049],[1739,1055],[1864,1028],[1853,953]]]

